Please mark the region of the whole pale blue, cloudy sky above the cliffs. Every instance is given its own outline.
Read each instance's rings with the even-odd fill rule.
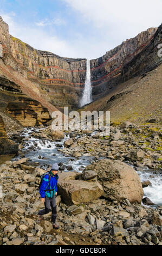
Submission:
[[[62,57],[95,59],[161,24],[162,0],[0,0],[12,36]]]

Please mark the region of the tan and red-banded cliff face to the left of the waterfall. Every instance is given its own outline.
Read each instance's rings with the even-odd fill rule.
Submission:
[[[0,71],[6,74],[10,69],[12,71],[14,69],[17,80],[25,78],[27,82],[25,81],[24,90],[22,84],[17,81],[22,92],[31,97],[33,94],[35,96],[38,94],[37,99],[40,99],[43,106],[45,106],[44,100],[47,101],[46,107],[50,114],[56,110],[51,107],[52,105],[77,107],[77,101],[81,97],[80,88],[83,88],[85,83],[86,59],[62,58],[50,52],[35,50],[10,36],[8,25],[2,18],[0,18],[0,42],[3,46],[3,58],[0,61],[4,64],[4,69],[2,70],[1,65]],[[28,88],[33,92],[26,92],[25,89]],[[51,103],[50,106],[48,102]]]

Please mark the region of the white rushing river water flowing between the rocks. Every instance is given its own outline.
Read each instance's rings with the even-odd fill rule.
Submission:
[[[75,157],[63,155],[61,151],[58,151],[59,148],[56,146],[56,144],[60,144],[61,149],[64,148],[63,143],[69,138],[68,134],[64,136],[64,139],[51,142],[46,139],[42,140],[31,136],[31,133],[37,131],[39,131],[39,129],[33,127],[30,129],[25,128],[21,135],[28,138],[28,140],[24,141],[24,156],[28,157],[31,162],[38,162],[38,167],[46,170],[49,164],[52,165],[54,162],[57,162],[58,164],[63,163],[66,166],[72,166],[72,170],[81,173],[88,164],[92,163],[94,156],[81,156],[77,160]],[[77,137],[80,137],[80,135],[76,136],[76,138]],[[28,149],[33,145],[35,150]],[[39,156],[47,159],[39,159]],[[18,159],[20,159],[19,156],[12,160]],[[103,157],[100,157],[100,159],[103,159]],[[68,169],[66,168],[64,171],[68,172]],[[148,197],[155,204],[154,207],[157,205],[162,205],[162,172],[159,170],[155,171],[144,168],[142,171],[137,171],[137,173],[141,182],[146,180],[151,182],[151,185],[144,188],[144,197]]]

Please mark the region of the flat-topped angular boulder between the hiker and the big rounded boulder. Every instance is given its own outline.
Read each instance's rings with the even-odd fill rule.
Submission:
[[[62,202],[68,205],[88,203],[103,195],[102,186],[98,181],[76,180],[76,176],[77,173],[75,172],[62,172],[59,174],[57,187]]]

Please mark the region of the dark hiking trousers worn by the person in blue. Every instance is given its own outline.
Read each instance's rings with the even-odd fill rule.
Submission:
[[[44,205],[45,205],[45,209],[39,211],[38,215],[48,214],[50,211],[52,211],[51,222],[55,223],[56,216],[57,216],[55,196],[53,198],[45,197]]]

